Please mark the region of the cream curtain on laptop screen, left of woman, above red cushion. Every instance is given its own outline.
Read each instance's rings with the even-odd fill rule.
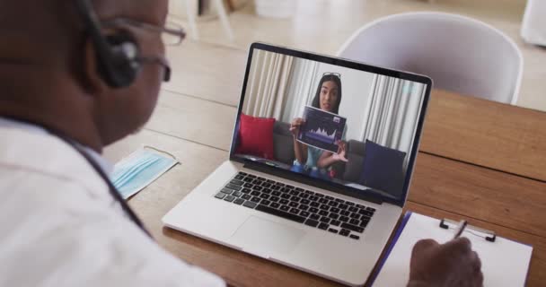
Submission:
[[[253,117],[282,116],[294,57],[255,50],[242,112]]]

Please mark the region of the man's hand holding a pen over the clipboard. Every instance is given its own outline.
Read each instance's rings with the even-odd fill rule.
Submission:
[[[413,247],[408,287],[481,287],[480,257],[466,238],[438,244],[419,240]]]

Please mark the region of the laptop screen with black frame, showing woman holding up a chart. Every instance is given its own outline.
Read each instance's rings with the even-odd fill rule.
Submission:
[[[253,44],[231,158],[403,204],[430,80]]]

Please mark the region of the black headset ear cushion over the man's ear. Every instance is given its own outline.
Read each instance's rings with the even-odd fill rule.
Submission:
[[[111,67],[114,69],[117,87],[126,87],[135,81],[140,72],[140,48],[128,32],[119,31],[105,37],[110,45]]]

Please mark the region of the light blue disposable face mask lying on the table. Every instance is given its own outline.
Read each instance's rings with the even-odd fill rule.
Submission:
[[[158,152],[137,150],[114,166],[110,180],[124,199],[135,195],[170,170],[178,161]]]

